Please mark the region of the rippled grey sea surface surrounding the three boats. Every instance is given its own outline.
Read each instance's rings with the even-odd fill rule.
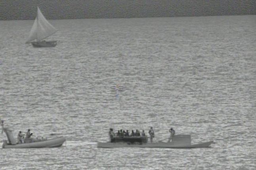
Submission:
[[[0,21],[0,118],[67,142],[0,149],[1,170],[256,168],[255,15],[53,20],[54,48],[24,44],[33,22]],[[155,142],[173,127],[215,144],[97,148],[110,127],[150,126]]]

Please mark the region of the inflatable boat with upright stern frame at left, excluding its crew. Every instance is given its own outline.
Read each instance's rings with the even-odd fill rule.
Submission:
[[[29,142],[18,143],[15,138],[13,138],[12,132],[8,128],[3,128],[6,133],[8,140],[3,141],[2,148],[53,148],[62,146],[66,141],[64,137],[47,139],[47,138],[32,138]]]

